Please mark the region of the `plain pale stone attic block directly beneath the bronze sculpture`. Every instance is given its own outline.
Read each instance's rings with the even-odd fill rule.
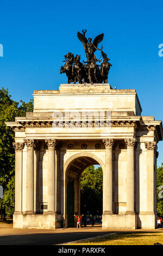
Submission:
[[[59,90],[35,90],[34,112],[78,109],[86,111],[134,111],[141,106],[134,89],[110,89],[110,84],[61,84]]]

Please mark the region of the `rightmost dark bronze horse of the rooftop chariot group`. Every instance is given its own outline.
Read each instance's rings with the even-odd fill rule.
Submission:
[[[108,83],[108,73],[110,70],[110,66],[112,66],[108,60],[110,60],[106,53],[101,51],[102,56],[103,56],[103,62],[101,63],[101,68],[99,69],[99,83]]]

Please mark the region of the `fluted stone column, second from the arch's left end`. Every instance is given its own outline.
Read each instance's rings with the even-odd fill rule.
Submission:
[[[25,139],[27,146],[26,213],[34,214],[34,139]]]

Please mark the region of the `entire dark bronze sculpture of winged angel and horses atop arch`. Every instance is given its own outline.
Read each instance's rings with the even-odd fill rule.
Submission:
[[[108,83],[108,73],[110,66],[112,66],[108,60],[106,53],[103,52],[103,46],[101,49],[98,48],[98,44],[103,40],[104,34],[96,36],[93,40],[89,38],[88,40],[85,37],[86,29],[78,32],[78,39],[82,42],[87,61],[83,63],[80,62],[80,55],[74,57],[73,53],[68,52],[65,55],[64,62],[65,65],[61,66],[60,74],[66,73],[68,77],[68,83],[78,82],[78,83]],[[95,56],[95,51],[99,50],[102,53],[102,60],[99,60]],[[101,66],[97,65],[96,62],[102,62]]]

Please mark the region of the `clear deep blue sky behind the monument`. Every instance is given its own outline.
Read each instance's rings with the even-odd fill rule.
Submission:
[[[12,99],[29,101],[37,89],[66,83],[60,66],[67,52],[85,58],[77,32],[94,38],[104,32],[103,47],[112,64],[108,82],[136,89],[142,115],[163,119],[162,1],[1,1],[1,87]],[[163,162],[159,142],[158,165]]]

